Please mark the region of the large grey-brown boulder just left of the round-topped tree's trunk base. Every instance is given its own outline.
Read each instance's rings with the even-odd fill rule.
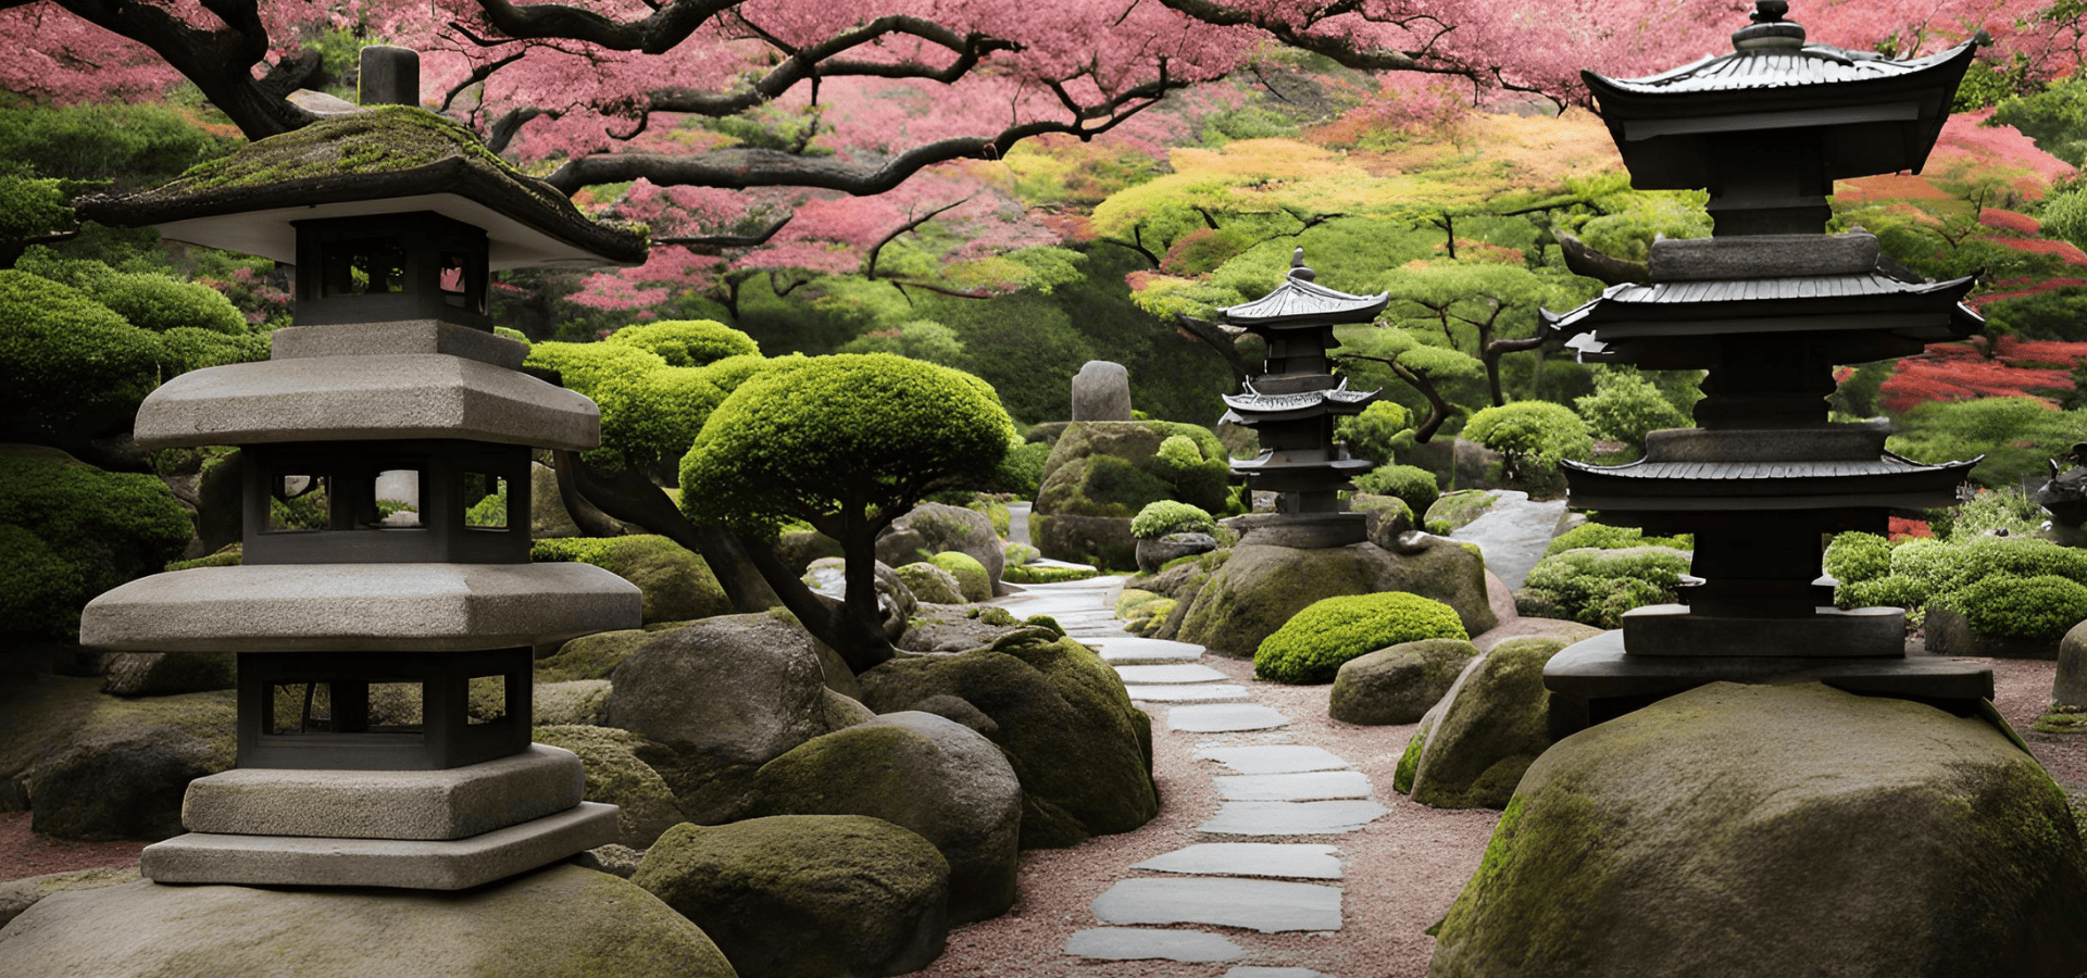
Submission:
[[[760,765],[831,728],[812,638],[781,615],[722,615],[662,634],[616,667],[607,726],[630,730],[691,822],[730,822]]]

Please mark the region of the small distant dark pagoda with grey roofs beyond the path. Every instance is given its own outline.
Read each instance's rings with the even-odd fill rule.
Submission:
[[[1254,534],[1252,542],[1319,548],[1367,536],[1367,517],[1348,513],[1340,492],[1352,490],[1348,480],[1377,463],[1350,459],[1334,440],[1334,419],[1363,413],[1377,392],[1348,390],[1346,377],[1334,377],[1325,350],[1340,346],[1336,325],[1369,323],[1388,296],[1350,296],[1315,277],[1298,248],[1275,292],[1217,311],[1221,323],[1248,329],[1269,346],[1263,371],[1242,394],[1225,396],[1227,417],[1261,438],[1261,455],[1236,459],[1231,471],[1246,478],[1248,490],[1275,492],[1275,513],[1227,521],[1242,536]]]

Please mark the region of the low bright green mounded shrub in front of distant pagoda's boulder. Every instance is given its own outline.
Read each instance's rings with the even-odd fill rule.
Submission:
[[[1261,640],[1254,676],[1273,682],[1334,682],[1348,659],[1423,638],[1469,638],[1457,611],[1402,590],[1315,601]]]

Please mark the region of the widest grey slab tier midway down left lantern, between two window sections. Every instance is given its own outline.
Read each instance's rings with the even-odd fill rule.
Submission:
[[[637,584],[576,561],[192,567],[90,601],[79,642],[146,653],[457,653],[639,628],[643,613]]]

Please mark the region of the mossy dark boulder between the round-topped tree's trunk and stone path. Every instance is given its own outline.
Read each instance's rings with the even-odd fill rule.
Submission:
[[[1071,847],[1158,815],[1152,719],[1087,646],[1031,628],[989,649],[891,659],[862,674],[879,713],[950,701],[991,719],[985,736],[1023,784],[1023,849]],[[964,722],[960,715],[952,717]]]

